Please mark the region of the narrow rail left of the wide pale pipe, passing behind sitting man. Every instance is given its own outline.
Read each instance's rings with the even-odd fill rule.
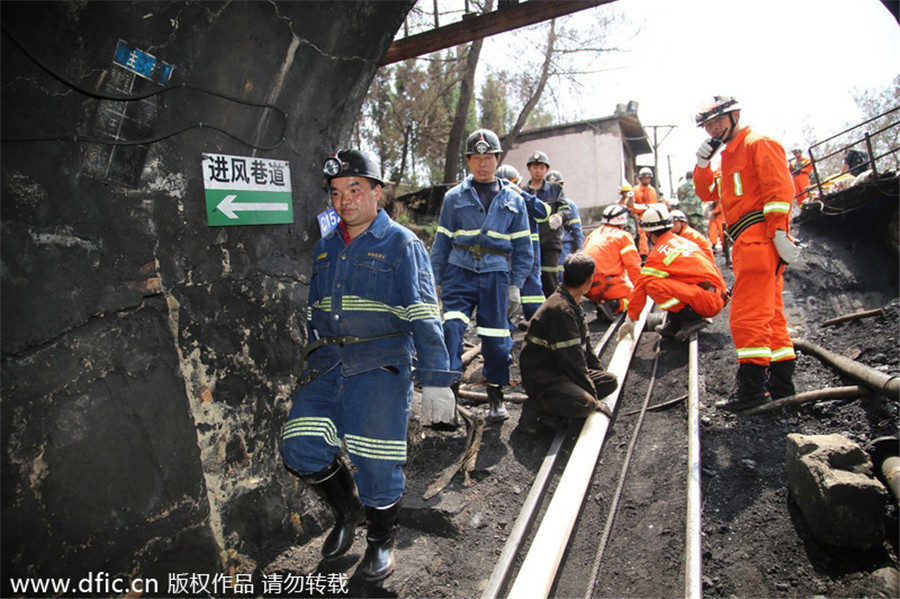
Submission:
[[[620,315],[609,325],[609,327],[607,327],[600,342],[594,348],[594,354],[598,357],[606,349],[613,333],[622,322],[622,317],[623,315]],[[499,596],[500,589],[506,582],[506,577],[519,553],[522,540],[528,534],[528,530],[534,519],[534,514],[543,499],[547,483],[550,480],[550,474],[556,464],[556,458],[559,455],[559,449],[562,447],[565,437],[566,429],[563,429],[557,432],[556,436],[553,438],[550,449],[547,450],[547,455],[544,456],[544,461],[541,463],[541,467],[531,485],[531,491],[529,491],[528,496],[525,498],[522,509],[519,510],[519,516],[516,518],[516,522],[513,524],[509,536],[506,538],[506,543],[503,546],[503,551],[500,553],[500,558],[494,566],[494,571],[491,573],[490,579],[488,579],[487,587],[485,587],[484,592],[481,594],[482,599],[496,599],[496,597]]]

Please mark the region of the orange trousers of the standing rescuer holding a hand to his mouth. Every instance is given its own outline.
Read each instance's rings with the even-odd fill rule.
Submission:
[[[784,315],[784,265],[770,241],[738,239],[731,252],[731,337],[738,362],[767,366],[793,360],[794,344]]]

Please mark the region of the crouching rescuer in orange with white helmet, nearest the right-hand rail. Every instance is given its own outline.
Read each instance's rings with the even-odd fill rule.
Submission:
[[[729,299],[727,286],[719,269],[697,244],[675,235],[665,207],[648,208],[641,217],[641,228],[653,249],[634,285],[628,319],[619,329],[619,339],[634,337],[634,322],[649,296],[666,312],[666,323],[656,332],[684,341],[722,311]]]

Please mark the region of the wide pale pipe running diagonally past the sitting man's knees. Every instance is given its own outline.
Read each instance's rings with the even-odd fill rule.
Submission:
[[[621,381],[625,380],[628,365],[637,347],[637,340],[644,329],[647,314],[652,308],[653,302],[648,301],[641,312],[641,317],[635,323],[635,338],[626,337],[620,341],[610,360],[607,370],[614,373],[620,383],[616,390],[603,400],[613,412],[619,398]],[[584,494],[591,482],[608,428],[609,418],[601,412],[594,412],[585,419],[553,499],[509,590],[509,597],[547,597],[550,593],[572,528],[581,511]]]

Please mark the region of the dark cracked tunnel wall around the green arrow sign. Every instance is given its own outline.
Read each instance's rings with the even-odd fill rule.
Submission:
[[[278,454],[320,168],[413,4],[3,3],[0,594],[252,569],[321,528]],[[114,65],[120,40],[156,68]],[[87,95],[181,83],[226,97]],[[74,140],[113,132],[161,139]],[[289,161],[293,223],[210,226],[203,153]]]

